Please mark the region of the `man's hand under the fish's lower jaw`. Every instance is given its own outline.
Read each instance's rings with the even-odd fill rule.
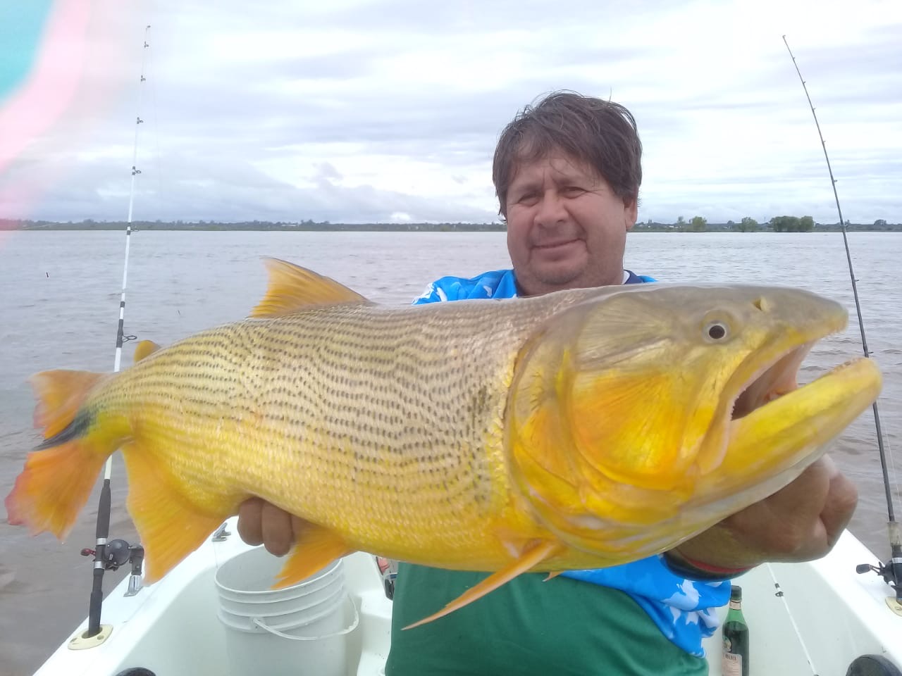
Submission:
[[[833,548],[857,502],[851,481],[824,456],[785,488],[680,544],[676,553],[727,569],[812,561]]]

